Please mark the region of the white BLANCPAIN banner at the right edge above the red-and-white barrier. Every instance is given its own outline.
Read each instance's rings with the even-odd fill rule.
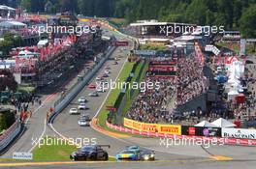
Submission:
[[[221,135],[226,138],[256,139],[256,129],[223,127],[221,128]]]

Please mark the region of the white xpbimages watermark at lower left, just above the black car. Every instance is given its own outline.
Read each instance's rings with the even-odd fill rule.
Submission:
[[[82,146],[88,146],[88,145],[96,145],[97,144],[97,138],[60,138],[56,136],[46,136],[44,138],[34,138],[32,137],[32,146],[37,146],[38,148],[42,148],[42,146],[63,146],[63,145],[69,145],[69,146],[77,146],[78,148],[81,148]]]

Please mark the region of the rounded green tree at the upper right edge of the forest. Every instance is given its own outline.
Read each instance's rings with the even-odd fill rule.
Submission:
[[[252,5],[240,17],[240,31],[244,38],[256,37],[256,5]]]

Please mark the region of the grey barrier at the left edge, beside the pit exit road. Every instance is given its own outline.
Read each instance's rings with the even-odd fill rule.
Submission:
[[[17,134],[20,132],[21,124],[16,121],[14,125],[9,127],[0,136],[0,153],[14,140]]]

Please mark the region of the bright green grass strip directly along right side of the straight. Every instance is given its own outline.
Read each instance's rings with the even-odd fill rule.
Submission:
[[[124,82],[125,79],[129,76],[131,70],[133,69],[135,63],[126,62],[123,70],[120,72],[118,78],[116,81],[118,82]],[[100,127],[104,127],[105,129],[108,129],[106,126],[106,119],[108,116],[109,111],[106,110],[107,105],[113,105],[115,100],[117,99],[118,95],[120,93],[120,89],[116,88],[113,89],[110,96],[108,97],[107,101],[105,102],[104,106],[102,107],[99,116],[98,116],[98,125]]]

